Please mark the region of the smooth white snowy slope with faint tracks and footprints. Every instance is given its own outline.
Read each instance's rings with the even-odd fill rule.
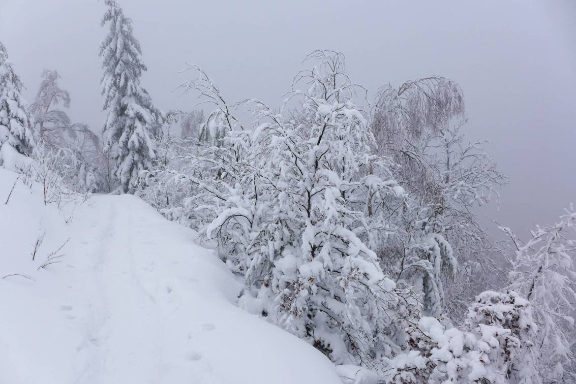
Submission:
[[[16,177],[0,168],[0,278],[26,276],[0,279],[0,383],[341,383],[233,304],[240,284],[193,231],[134,196],[58,210],[19,180],[4,204]]]

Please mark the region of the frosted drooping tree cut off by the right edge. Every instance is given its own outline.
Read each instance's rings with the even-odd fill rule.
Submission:
[[[507,227],[516,251],[507,290],[530,301],[539,332],[538,368],[550,382],[576,380],[574,345],[576,328],[576,211],[573,206],[552,226],[536,226],[522,242]]]

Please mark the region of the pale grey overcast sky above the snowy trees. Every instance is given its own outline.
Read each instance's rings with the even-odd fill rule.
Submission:
[[[171,92],[199,64],[229,102],[278,105],[315,49],[346,54],[355,82],[376,91],[441,75],[460,83],[467,135],[511,177],[499,212],[522,231],[576,203],[576,2],[119,0],[134,21],[156,104],[192,109]],[[56,69],[70,116],[100,130],[98,45],[103,1],[0,0],[0,41],[32,101],[41,71]]]

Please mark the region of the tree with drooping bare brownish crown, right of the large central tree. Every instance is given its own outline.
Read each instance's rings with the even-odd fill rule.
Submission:
[[[399,220],[403,235],[381,258],[421,287],[427,315],[448,306],[447,313],[458,316],[478,285],[471,281],[480,273],[497,276],[490,256],[498,250],[472,208],[497,196],[506,178],[483,150],[485,141],[464,142],[465,121],[460,87],[441,77],[385,86],[372,111],[377,153],[400,165],[394,176],[408,193]]]

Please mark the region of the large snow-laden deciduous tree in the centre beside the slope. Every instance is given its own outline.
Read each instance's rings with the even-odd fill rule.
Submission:
[[[353,101],[359,88],[344,71],[343,55],[317,51],[309,59],[320,64],[297,76],[291,111],[248,102],[257,127],[235,152],[240,164],[219,165],[232,183],[205,233],[251,287],[241,302],[261,303],[271,321],[336,363],[374,366],[397,350],[392,319],[407,317],[411,307],[400,303],[408,292],[397,290],[370,249],[391,229],[384,215],[367,215],[367,191],[374,191],[375,211],[404,192],[388,159],[370,150],[374,138]],[[225,113],[211,131],[237,143],[219,121]]]

